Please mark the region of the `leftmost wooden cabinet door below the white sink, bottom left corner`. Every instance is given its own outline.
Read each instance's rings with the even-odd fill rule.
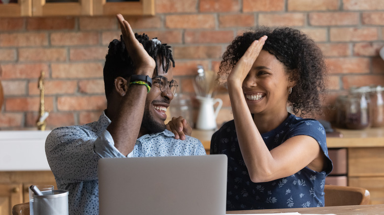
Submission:
[[[12,207],[23,203],[22,184],[0,184],[0,215],[11,215]]]

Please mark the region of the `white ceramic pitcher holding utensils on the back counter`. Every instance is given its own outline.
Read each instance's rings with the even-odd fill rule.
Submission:
[[[196,96],[200,102],[199,114],[196,121],[196,129],[214,130],[217,129],[216,117],[223,106],[223,100],[219,98],[208,98]],[[219,103],[216,109],[213,106]]]

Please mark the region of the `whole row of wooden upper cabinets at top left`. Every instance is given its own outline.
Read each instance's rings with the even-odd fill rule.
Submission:
[[[117,13],[155,15],[155,1],[74,0],[47,2],[46,0],[18,0],[18,3],[0,4],[0,17],[99,16],[116,15]]]

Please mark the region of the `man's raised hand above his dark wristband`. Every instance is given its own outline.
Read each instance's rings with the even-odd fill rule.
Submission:
[[[129,56],[132,58],[136,68],[136,75],[148,75],[152,77],[156,68],[155,60],[145,51],[143,45],[136,39],[129,23],[124,20],[121,14],[116,15],[119,21],[124,43],[126,44]]]

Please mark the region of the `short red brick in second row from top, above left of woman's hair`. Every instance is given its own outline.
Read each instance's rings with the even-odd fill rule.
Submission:
[[[219,27],[252,27],[255,25],[253,14],[220,14]]]

